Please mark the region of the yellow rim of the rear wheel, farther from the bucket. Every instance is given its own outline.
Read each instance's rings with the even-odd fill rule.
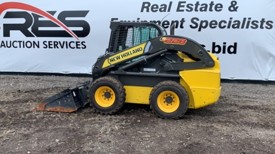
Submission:
[[[174,112],[179,107],[179,98],[172,91],[163,91],[157,97],[157,106],[163,112]]]

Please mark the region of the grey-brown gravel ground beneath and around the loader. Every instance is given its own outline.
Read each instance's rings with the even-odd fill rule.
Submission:
[[[0,154],[275,154],[275,85],[222,83],[217,103],[180,120],[135,104],[111,116],[31,111],[87,80],[0,75]]]

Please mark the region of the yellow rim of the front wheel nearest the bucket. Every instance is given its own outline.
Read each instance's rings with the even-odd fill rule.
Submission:
[[[114,103],[115,95],[110,87],[102,86],[95,91],[94,99],[99,106],[106,108]]]

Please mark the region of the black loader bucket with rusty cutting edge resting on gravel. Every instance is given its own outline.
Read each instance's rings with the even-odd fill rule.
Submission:
[[[90,81],[66,89],[42,101],[32,111],[73,112],[88,103],[87,91]]]

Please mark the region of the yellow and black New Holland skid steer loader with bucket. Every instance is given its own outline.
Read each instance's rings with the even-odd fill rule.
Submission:
[[[160,118],[178,119],[188,108],[220,95],[218,58],[192,39],[167,35],[150,22],[110,22],[109,46],[92,78],[41,102],[34,111],[73,112],[87,104],[113,114],[124,103],[148,104]]]

